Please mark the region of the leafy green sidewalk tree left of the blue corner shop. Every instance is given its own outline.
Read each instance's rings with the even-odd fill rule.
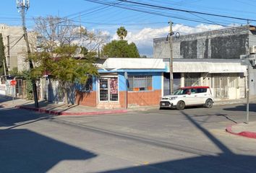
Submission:
[[[48,71],[51,77],[59,81],[59,86],[65,97],[65,105],[68,105],[68,92],[72,84],[85,84],[90,75],[98,76],[98,69],[93,64],[92,58],[74,58],[77,46],[63,45],[54,50],[54,58],[51,53],[43,51],[33,53],[30,58],[38,64],[33,71],[33,77],[42,76]]]

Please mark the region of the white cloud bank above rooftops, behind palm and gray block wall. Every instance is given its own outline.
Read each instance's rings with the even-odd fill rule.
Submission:
[[[219,25],[197,25],[196,27],[189,27],[185,25],[174,25],[174,32],[179,32],[180,35],[192,34],[196,32],[205,32],[209,30],[219,30],[223,27]],[[128,32],[125,40],[128,40],[129,43],[135,43],[137,48],[140,51],[141,55],[146,55],[152,57],[153,54],[153,38],[158,37],[167,37],[169,32],[169,27],[162,28],[150,28],[146,27],[138,32]],[[115,34],[111,40],[118,40],[119,37]]]

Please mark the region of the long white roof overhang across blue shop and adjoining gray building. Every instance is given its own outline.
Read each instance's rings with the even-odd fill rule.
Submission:
[[[100,73],[169,72],[169,61],[163,58],[106,58],[97,63]],[[174,73],[243,73],[247,67],[238,60],[174,59]]]

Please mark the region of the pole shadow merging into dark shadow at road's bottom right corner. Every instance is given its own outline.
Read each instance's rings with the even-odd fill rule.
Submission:
[[[177,172],[177,173],[200,173],[200,172],[218,172],[218,173],[241,173],[255,172],[256,157],[234,154],[227,146],[214,137],[208,130],[202,128],[192,116],[185,112],[182,114],[189,120],[190,123],[207,136],[218,148],[221,153],[218,156],[197,156],[189,159],[179,159],[172,161],[163,161],[155,164],[142,165],[138,167],[129,167],[124,169],[108,170],[101,173],[160,173],[160,172]]]

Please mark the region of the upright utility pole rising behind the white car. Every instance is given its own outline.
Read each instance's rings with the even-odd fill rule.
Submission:
[[[168,22],[170,25],[170,30],[168,33],[168,43],[169,43],[169,48],[170,48],[170,58],[169,58],[169,68],[170,68],[170,94],[174,92],[174,69],[173,69],[173,64],[174,64],[174,58],[173,58],[173,52],[172,52],[172,35],[174,35],[174,32],[172,31],[172,25],[173,22]]]

